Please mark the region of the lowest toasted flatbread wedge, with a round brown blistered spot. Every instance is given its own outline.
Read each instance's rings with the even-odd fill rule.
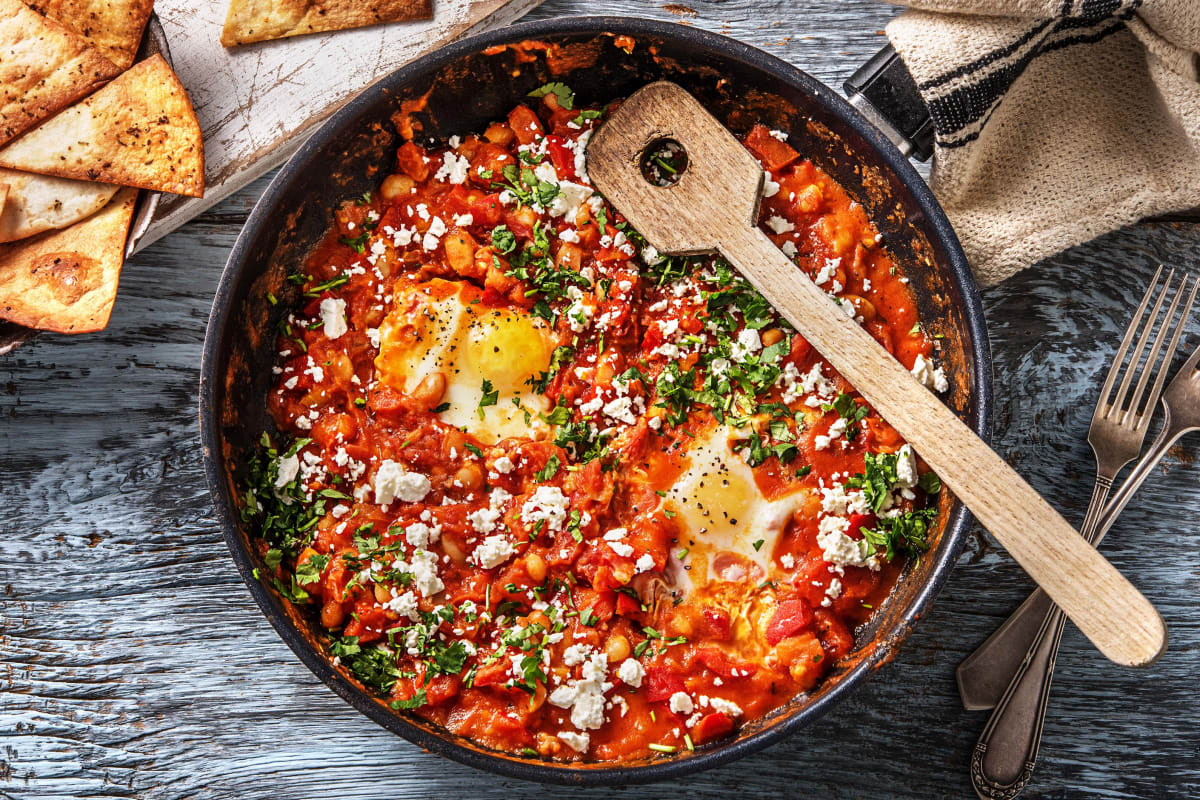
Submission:
[[[65,230],[0,245],[0,319],[59,333],[108,324],[138,191]]]

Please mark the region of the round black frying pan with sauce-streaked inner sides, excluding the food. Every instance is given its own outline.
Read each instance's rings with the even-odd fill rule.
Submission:
[[[528,42],[536,44],[521,46]],[[930,552],[906,569],[893,595],[858,631],[854,652],[812,693],[746,724],[726,741],[628,765],[566,765],[498,753],[389,710],[382,698],[331,664],[311,614],[254,578],[253,570],[262,565],[250,545],[253,531],[240,522],[236,495],[244,456],[259,433],[270,428],[265,397],[275,360],[274,326],[295,300],[284,275],[322,237],[342,199],[374,190],[391,169],[398,144],[391,115],[404,103],[418,126],[418,139],[444,140],[481,130],[548,80],[569,84],[582,103],[598,103],[628,96],[660,78],[691,91],[736,133],[745,133],[758,121],[788,131],[793,146],[866,207],[884,245],[911,278],[922,318],[943,337],[941,355],[952,385],[947,402],[979,435],[986,438],[990,432],[988,337],[976,284],[954,231],[896,148],[804,72],[690,26],[577,17],[463,40],[364,91],[284,164],[229,257],[204,342],[200,427],[205,469],[234,561],[268,620],[300,660],[389,730],[433,752],[514,777],[575,784],[655,781],[726,763],[797,730],[893,656],[944,583],[970,524],[966,509],[943,492],[940,529],[931,537]],[[268,302],[268,293],[280,297],[278,306]]]

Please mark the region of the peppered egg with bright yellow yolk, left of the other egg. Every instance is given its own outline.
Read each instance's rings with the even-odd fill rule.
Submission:
[[[438,415],[484,443],[541,438],[551,403],[532,387],[550,368],[554,333],[545,320],[488,307],[470,283],[433,279],[397,287],[379,325],[379,381],[413,393],[434,373],[445,378]],[[494,403],[491,401],[494,392]]]

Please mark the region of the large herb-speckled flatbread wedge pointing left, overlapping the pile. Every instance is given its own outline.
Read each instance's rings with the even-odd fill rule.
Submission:
[[[204,196],[200,124],[161,55],[0,150],[0,167]]]

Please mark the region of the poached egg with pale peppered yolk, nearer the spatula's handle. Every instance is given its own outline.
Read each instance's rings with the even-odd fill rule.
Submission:
[[[805,489],[768,499],[734,452],[737,441],[725,425],[697,434],[683,473],[665,487],[664,507],[676,515],[679,545],[688,549],[683,564],[673,559],[672,577],[689,594],[712,582],[757,584],[768,577],[780,536],[808,499]]]

